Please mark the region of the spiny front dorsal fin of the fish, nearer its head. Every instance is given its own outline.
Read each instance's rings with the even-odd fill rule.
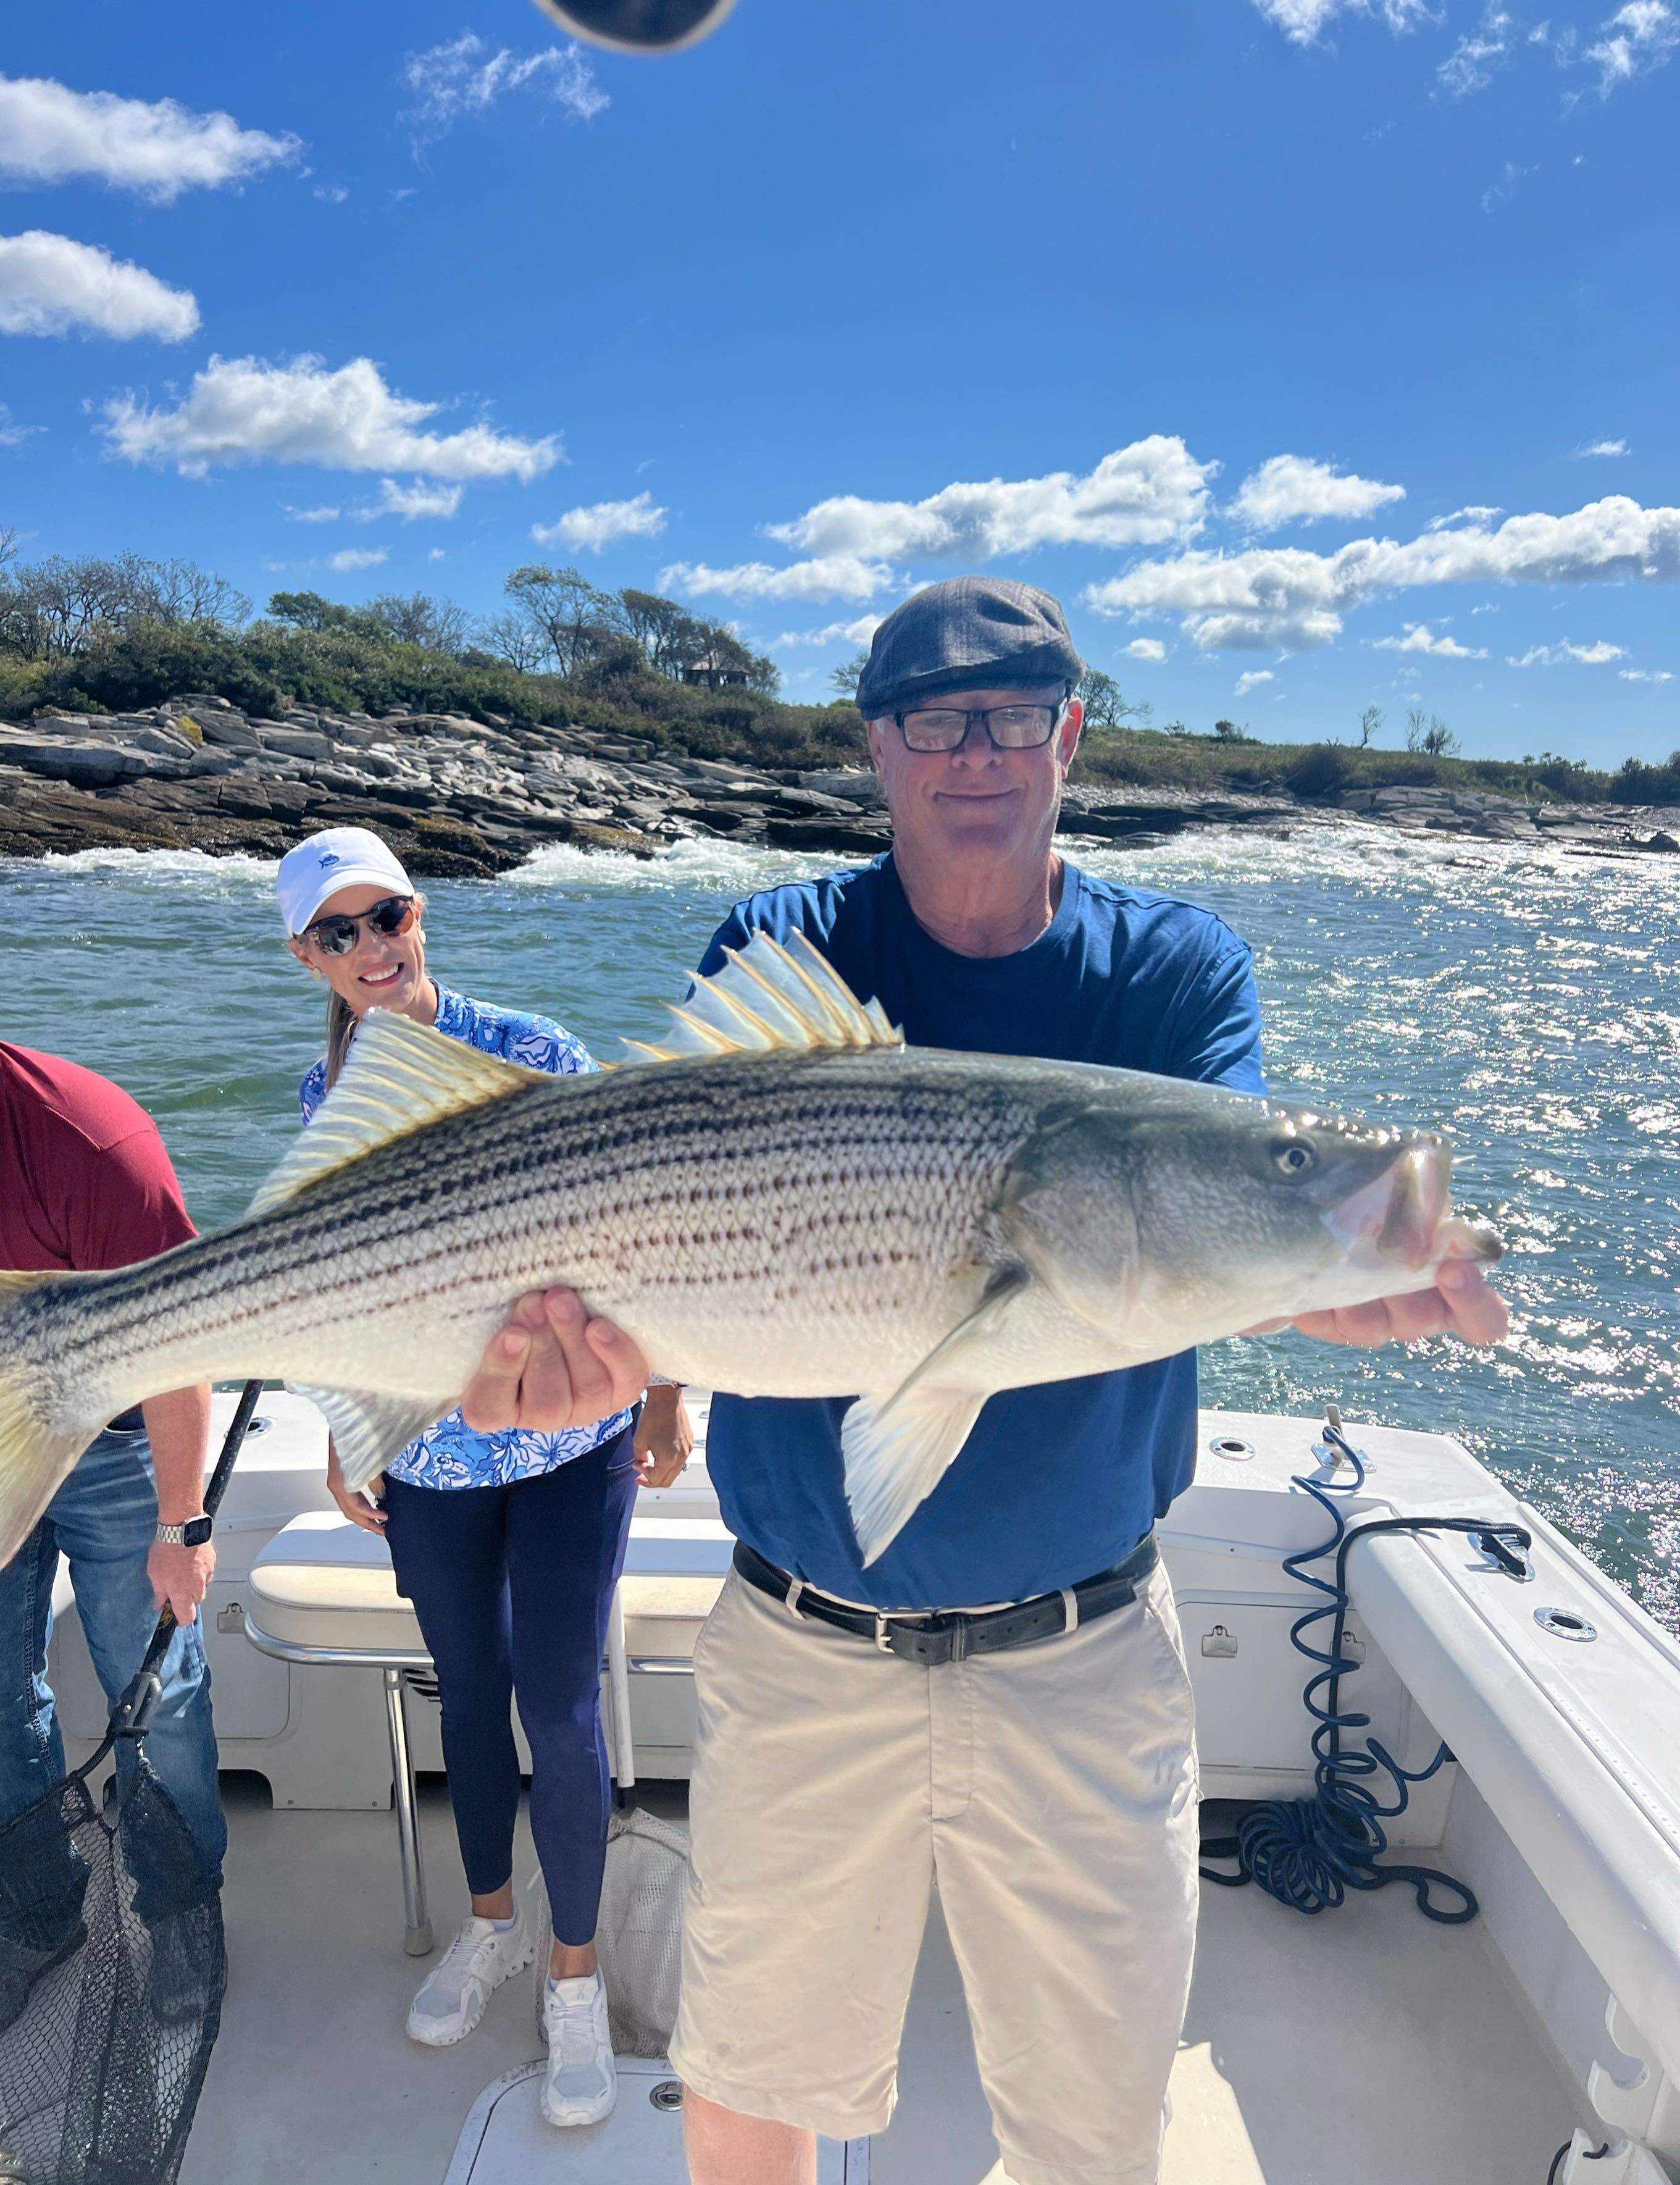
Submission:
[[[688,1001],[671,1009],[673,1029],[658,1047],[625,1040],[629,1062],[904,1044],[880,1003],[861,1003],[804,933],[786,944],[754,933],[725,955],[725,968],[695,979]]]

